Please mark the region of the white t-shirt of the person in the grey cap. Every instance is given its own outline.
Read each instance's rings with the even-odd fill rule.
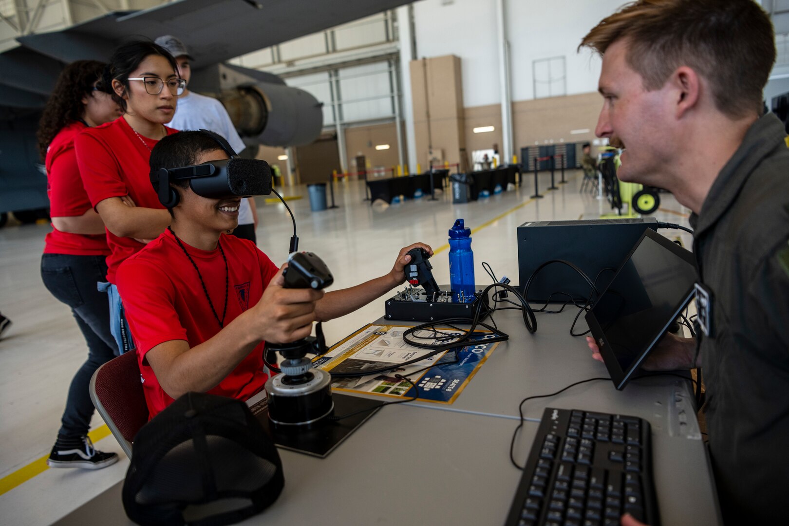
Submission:
[[[210,129],[211,132],[219,133],[224,137],[236,153],[246,147],[238,136],[225,106],[222,106],[217,99],[200,93],[189,91],[188,95],[178,97],[175,116],[167,125],[180,131]],[[238,224],[251,225],[253,222],[249,200],[243,199],[238,208]]]

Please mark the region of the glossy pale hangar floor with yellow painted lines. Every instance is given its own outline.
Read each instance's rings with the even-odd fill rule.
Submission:
[[[605,200],[578,192],[580,172],[568,174],[567,185],[545,192],[549,175],[540,174],[545,197],[529,199],[533,179],[522,188],[478,200],[452,204],[447,193],[437,201],[428,197],[391,205],[364,201],[359,181],[338,182],[338,208],[310,211],[306,188],[285,188],[294,211],[299,248],[315,252],[335,276],[335,288],[363,282],[387,273],[400,248],[415,241],[430,244],[437,252],[431,259],[439,284],[449,282],[447,229],[464,218],[473,229],[477,283],[487,283],[482,262],[497,277],[518,282],[516,229],[527,221],[592,219],[610,213]],[[673,196],[661,194],[656,217],[687,225],[689,213]],[[286,259],[292,223],[282,203],[257,199],[260,226],[258,245],[275,263]],[[97,449],[116,451],[122,461],[96,472],[77,469],[43,469],[54,442],[65,394],[74,371],[86,355],[84,340],[69,308],[54,300],[39,275],[39,259],[47,225],[6,226],[0,229],[0,311],[13,326],[0,339],[0,524],[50,524],[125,476],[128,461],[109,435],[96,442]],[[664,235],[690,236],[676,230]],[[358,327],[383,315],[382,300],[324,324],[327,341],[338,341]],[[582,323],[582,322],[581,322]],[[578,345],[585,345],[578,341]],[[93,427],[102,427],[94,416]],[[40,471],[40,472],[39,472]],[[39,472],[36,476],[31,474]],[[21,480],[27,479],[21,483]],[[100,517],[96,518],[101,524]]]

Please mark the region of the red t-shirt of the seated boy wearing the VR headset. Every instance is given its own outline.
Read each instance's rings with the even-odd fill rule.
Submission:
[[[227,292],[227,326],[241,312],[257,304],[279,269],[252,241],[222,234],[219,243],[230,271],[227,288],[225,262],[219,248],[204,251],[185,243],[184,246],[200,269],[220,318]],[[117,278],[152,418],[170,405],[173,398],[159,386],[145,354],[170,340],[185,340],[192,348],[213,338],[221,329],[211,312],[200,278],[169,229],[126,259],[118,269]],[[260,392],[268,378],[263,371],[263,351],[264,343],[261,342],[230,375],[208,392],[243,401]]]

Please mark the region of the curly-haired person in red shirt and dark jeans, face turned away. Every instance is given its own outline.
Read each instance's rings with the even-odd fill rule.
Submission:
[[[97,282],[107,274],[110,254],[104,223],[82,185],[74,138],[84,129],[119,118],[123,111],[101,83],[102,62],[80,60],[63,69],[44,107],[36,134],[47,168],[52,231],[44,240],[41,278],[52,295],[71,308],[88,360],[69,386],[58,439],[47,459],[50,468],[105,468],[117,453],[94,449],[88,438],[93,402],[88,386],[96,369],[115,355],[110,307]]]

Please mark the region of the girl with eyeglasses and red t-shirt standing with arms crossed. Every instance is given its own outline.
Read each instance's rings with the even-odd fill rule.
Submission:
[[[119,353],[134,349],[125,323],[115,273],[123,260],[155,239],[170,224],[149,177],[151,150],[164,136],[185,88],[175,59],[149,40],[134,40],[114,51],[103,83],[125,110],[122,118],[77,136],[77,162],[85,190],[107,229],[107,290],[110,330]]]

